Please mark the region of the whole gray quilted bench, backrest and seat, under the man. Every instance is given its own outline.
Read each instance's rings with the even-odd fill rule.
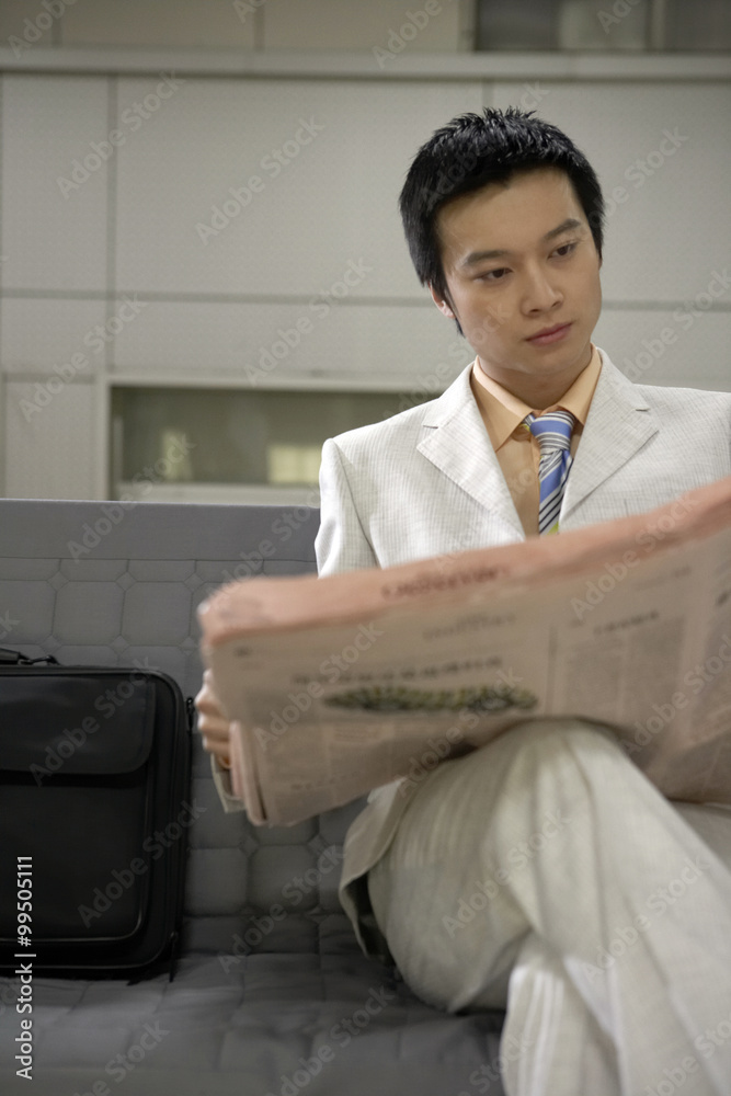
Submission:
[[[0,501],[0,646],[147,660],[192,696],[199,602],[229,578],[315,571],[317,524],[304,507]],[[36,977],[30,1085],[18,983],[1,980],[3,1096],[502,1096],[502,1015],[436,1012],[357,947],[336,884],[361,804],[254,827],[224,813],[194,739],[174,980]]]

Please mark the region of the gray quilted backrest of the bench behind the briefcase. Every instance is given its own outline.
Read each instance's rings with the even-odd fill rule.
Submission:
[[[0,646],[64,664],[163,670],[194,696],[198,604],[231,579],[316,571],[305,506],[0,501]],[[287,829],[220,808],[194,735],[184,949],[355,947],[336,898],[358,803]]]

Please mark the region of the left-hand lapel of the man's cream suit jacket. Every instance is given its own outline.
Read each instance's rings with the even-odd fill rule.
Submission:
[[[471,364],[429,404],[416,448],[453,483],[524,537],[507,483],[470,388]]]

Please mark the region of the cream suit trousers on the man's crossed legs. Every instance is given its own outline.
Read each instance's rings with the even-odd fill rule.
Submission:
[[[731,811],[669,802],[609,731],[439,766],[368,891],[419,996],[506,1007],[509,1096],[731,1096]]]

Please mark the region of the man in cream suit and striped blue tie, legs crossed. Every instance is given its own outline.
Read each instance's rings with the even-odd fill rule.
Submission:
[[[477,357],[431,403],[325,443],[321,575],[640,513],[731,473],[731,396],[631,385],[592,344],[603,202],[564,134],[514,110],[455,118],[400,204],[420,279]],[[506,1007],[510,1096],[681,1074],[684,1093],[731,1093],[731,1040],[709,1036],[731,1019],[731,815],[669,803],[609,731],[529,720],[378,789],[341,898],[425,1001]]]

